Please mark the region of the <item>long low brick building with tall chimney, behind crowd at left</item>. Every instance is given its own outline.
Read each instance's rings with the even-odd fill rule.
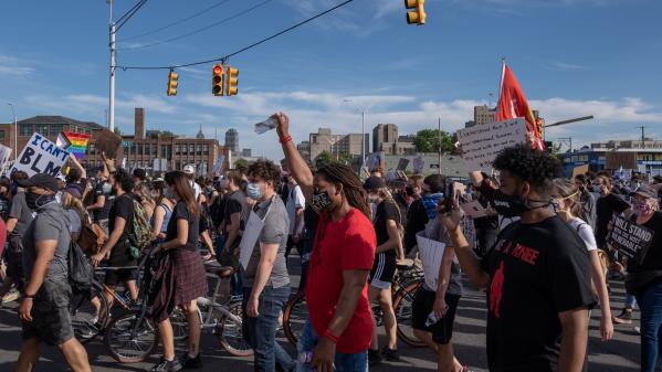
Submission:
[[[35,116],[18,121],[18,126],[19,149],[25,146],[33,132],[39,132],[53,142],[63,130],[91,135],[92,138],[87,146],[85,159],[81,160],[81,164],[88,170],[102,166],[101,153],[95,149],[94,138],[95,134],[105,128],[96,123],[81,121],[63,116]],[[145,110],[139,107],[135,109],[134,128],[135,134],[133,136],[122,136],[122,146],[115,155],[116,163],[124,163],[129,171],[143,168],[151,174],[161,171],[181,170],[187,164],[193,164],[198,176],[211,176],[211,168],[216,159],[220,155],[225,155],[225,158],[228,158],[228,151],[224,147],[220,146],[216,139],[206,139],[204,136],[201,136],[202,138],[188,138],[159,130],[150,130],[146,137]],[[0,124],[0,144],[13,149],[13,124]],[[165,161],[161,161],[161,159]],[[161,167],[161,163],[165,167]]]

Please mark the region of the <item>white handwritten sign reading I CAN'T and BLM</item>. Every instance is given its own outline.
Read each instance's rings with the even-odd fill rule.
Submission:
[[[66,159],[69,159],[69,151],[59,148],[46,137],[35,132],[32,134],[9,173],[13,174],[13,172],[22,170],[29,177],[38,173],[56,177]]]

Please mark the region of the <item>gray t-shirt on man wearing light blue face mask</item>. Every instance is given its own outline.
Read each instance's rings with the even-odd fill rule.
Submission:
[[[255,283],[255,275],[258,272],[258,264],[260,263],[260,243],[264,244],[279,244],[279,253],[274,266],[271,270],[266,286],[273,288],[281,288],[290,285],[290,274],[287,273],[287,265],[285,259],[285,246],[287,245],[287,232],[290,231],[290,223],[287,220],[287,210],[281,196],[274,195],[271,200],[263,203],[256,204],[253,211],[258,213],[260,219],[264,221],[264,227],[260,233],[258,243],[253,247],[249,266],[242,274],[242,281],[244,287],[252,287]],[[245,234],[244,234],[245,235]]]

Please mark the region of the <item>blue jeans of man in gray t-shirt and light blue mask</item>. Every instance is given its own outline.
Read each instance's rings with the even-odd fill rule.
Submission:
[[[252,288],[243,288],[243,338],[254,351],[253,370],[255,372],[274,372],[277,362],[284,371],[293,371],[296,365],[295,362],[276,342],[279,317],[285,302],[287,302],[287,298],[290,298],[290,286],[281,288],[264,287],[262,295],[260,295],[259,316],[256,318],[245,315],[251,290]]]

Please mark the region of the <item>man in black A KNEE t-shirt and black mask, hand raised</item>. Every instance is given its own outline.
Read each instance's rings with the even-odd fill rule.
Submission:
[[[596,304],[589,255],[581,238],[551,206],[560,162],[528,145],[502,150],[494,206],[519,216],[479,259],[469,248],[455,205],[442,216],[462,270],[488,288],[490,371],[579,372],[588,344],[588,311]]]

